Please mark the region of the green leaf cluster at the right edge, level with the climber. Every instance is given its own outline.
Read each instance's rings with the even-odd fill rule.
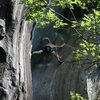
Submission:
[[[80,43],[80,48],[75,53],[77,60],[83,57],[89,57],[95,62],[100,59],[100,44],[89,43],[83,40],[83,42]]]

